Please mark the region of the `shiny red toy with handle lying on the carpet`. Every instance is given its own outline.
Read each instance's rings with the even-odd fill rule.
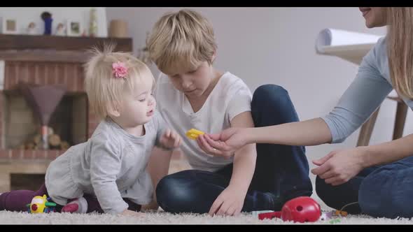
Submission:
[[[258,215],[258,219],[281,218],[283,221],[316,222],[321,217],[320,205],[313,198],[300,196],[287,201],[281,211],[265,212]]]

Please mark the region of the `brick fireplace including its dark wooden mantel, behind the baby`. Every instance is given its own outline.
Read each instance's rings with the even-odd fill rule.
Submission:
[[[132,52],[131,38],[0,34],[0,192],[13,189],[12,175],[44,174],[50,161],[66,151],[22,147],[40,123],[19,91],[20,83],[66,86],[50,127],[70,145],[83,143],[99,123],[83,86],[85,50],[109,41],[117,44],[116,50]]]

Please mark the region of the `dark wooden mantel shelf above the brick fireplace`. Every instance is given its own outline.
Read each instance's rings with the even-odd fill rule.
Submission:
[[[117,51],[132,52],[132,38],[102,38],[0,34],[0,50],[87,50],[93,45],[116,43]]]

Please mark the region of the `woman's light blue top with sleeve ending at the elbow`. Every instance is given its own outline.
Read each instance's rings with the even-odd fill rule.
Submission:
[[[393,90],[388,69],[386,37],[380,38],[363,57],[356,78],[346,89],[337,106],[321,117],[332,135],[331,143],[341,143],[360,127]],[[407,106],[413,101],[403,98]]]

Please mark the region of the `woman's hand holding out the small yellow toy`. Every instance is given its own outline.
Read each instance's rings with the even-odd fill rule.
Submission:
[[[197,143],[207,154],[229,159],[239,148],[248,143],[248,128],[232,127],[217,134],[198,136]]]

